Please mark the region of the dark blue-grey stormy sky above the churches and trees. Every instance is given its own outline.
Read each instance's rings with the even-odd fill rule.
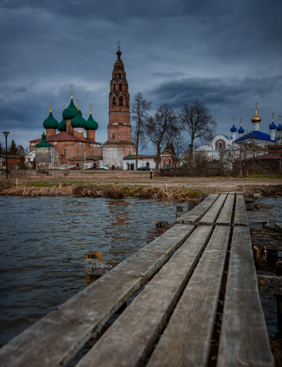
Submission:
[[[139,90],[156,108],[204,102],[217,132],[252,129],[282,113],[281,0],[1,0],[0,131],[24,147],[49,115],[74,101],[107,140],[108,94],[120,40],[131,102]],[[75,101],[76,104],[76,101]],[[238,136],[238,135],[237,135]],[[1,133],[0,141],[5,142]],[[152,148],[148,153],[153,154]]]

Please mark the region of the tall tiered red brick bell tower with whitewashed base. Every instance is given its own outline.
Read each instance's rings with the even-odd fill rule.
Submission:
[[[103,144],[103,162],[123,169],[123,157],[135,154],[136,147],[131,141],[128,83],[119,47],[116,54],[118,58],[110,82],[108,141]]]

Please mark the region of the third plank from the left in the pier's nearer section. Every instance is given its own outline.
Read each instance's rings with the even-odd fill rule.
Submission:
[[[229,233],[216,226],[147,367],[206,366]]]

